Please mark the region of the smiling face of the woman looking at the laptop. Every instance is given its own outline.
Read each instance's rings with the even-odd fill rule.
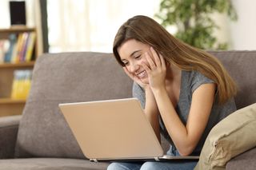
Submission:
[[[149,83],[146,70],[142,67],[142,62],[149,65],[146,61],[145,53],[150,53],[150,45],[143,44],[134,39],[130,39],[118,48],[121,61],[126,66],[130,74],[138,77],[144,84]]]

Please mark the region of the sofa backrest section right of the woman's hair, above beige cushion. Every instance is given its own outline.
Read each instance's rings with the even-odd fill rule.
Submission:
[[[256,50],[210,51],[218,57],[238,85],[237,108],[256,103]]]

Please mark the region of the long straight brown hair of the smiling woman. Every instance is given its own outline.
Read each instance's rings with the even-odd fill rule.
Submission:
[[[119,28],[114,38],[113,53],[122,66],[125,65],[119,56],[118,47],[130,39],[152,46],[166,61],[180,69],[196,70],[209,77],[217,85],[220,104],[237,93],[233,79],[216,57],[174,38],[154,19],[142,15],[134,16]]]

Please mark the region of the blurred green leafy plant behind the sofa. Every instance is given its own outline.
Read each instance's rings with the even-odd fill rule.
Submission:
[[[156,17],[162,26],[176,26],[176,38],[201,49],[227,49],[218,43],[214,30],[219,29],[212,18],[214,13],[227,14],[232,20],[238,16],[230,0],[162,0]]]

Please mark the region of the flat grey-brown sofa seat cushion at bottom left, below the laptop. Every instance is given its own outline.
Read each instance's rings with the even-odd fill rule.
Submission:
[[[108,163],[94,163],[90,160],[29,158],[0,160],[0,169],[4,170],[103,170]]]

